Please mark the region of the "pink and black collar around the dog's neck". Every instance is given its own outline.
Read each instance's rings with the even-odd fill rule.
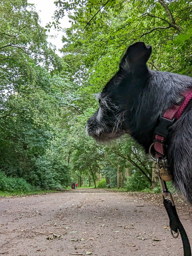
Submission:
[[[187,106],[188,102],[192,98],[192,88],[188,89],[185,92],[182,92],[175,105],[172,105],[170,108],[164,111],[163,115],[159,117],[159,123],[154,130],[154,150],[156,157],[165,157],[165,147],[164,143],[166,137],[169,133],[168,128],[176,120],[178,120]]]

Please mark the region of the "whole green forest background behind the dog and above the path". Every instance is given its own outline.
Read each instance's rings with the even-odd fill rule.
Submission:
[[[46,29],[28,0],[0,1],[0,191],[80,186],[158,190],[153,165],[130,136],[85,135],[94,94],[126,47],[152,45],[148,67],[192,75],[191,0],[56,0]],[[46,31],[64,29],[62,57]]]

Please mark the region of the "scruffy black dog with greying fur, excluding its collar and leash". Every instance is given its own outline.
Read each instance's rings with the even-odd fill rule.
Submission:
[[[149,70],[151,46],[130,45],[118,72],[98,95],[99,108],[87,121],[86,132],[98,141],[129,133],[146,151],[153,141],[158,117],[192,87],[192,78]],[[167,162],[173,182],[192,203],[192,102],[170,127]]]

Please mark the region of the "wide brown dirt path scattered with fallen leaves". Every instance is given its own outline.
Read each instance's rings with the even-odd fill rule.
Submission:
[[[187,209],[178,215],[192,241]],[[180,237],[166,227],[161,204],[126,193],[75,189],[0,198],[0,255],[183,255]]]

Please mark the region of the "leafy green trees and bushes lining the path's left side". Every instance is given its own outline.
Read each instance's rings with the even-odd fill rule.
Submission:
[[[54,148],[63,63],[26,0],[2,0],[0,23],[0,189],[65,187],[69,168]]]

